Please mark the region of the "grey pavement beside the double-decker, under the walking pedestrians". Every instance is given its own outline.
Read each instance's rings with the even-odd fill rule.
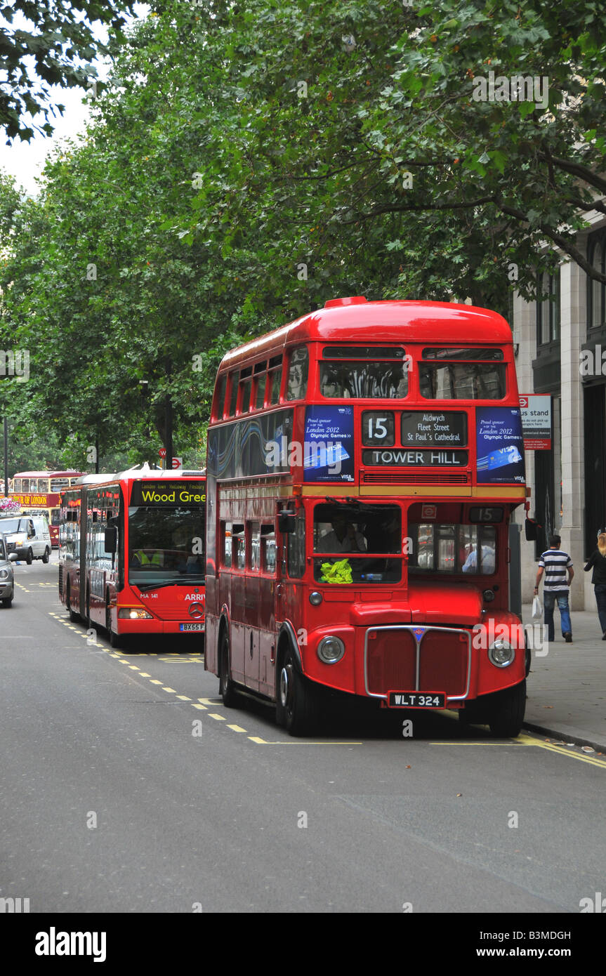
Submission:
[[[531,624],[531,604],[522,607]],[[571,611],[572,644],[562,637],[554,609],[555,640],[545,657],[532,654],[524,728],[558,742],[606,753],[606,640],[595,611]]]

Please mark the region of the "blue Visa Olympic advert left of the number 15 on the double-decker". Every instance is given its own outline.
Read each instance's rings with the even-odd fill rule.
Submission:
[[[305,481],[353,481],[353,407],[305,408]]]

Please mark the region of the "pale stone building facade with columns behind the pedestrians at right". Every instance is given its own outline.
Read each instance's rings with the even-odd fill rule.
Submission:
[[[588,221],[577,245],[604,273],[606,217],[594,211]],[[515,296],[511,319],[519,391],[550,395],[552,415],[551,450],[526,452],[529,514],[544,531],[536,544],[523,537],[522,594],[532,598],[537,559],[557,532],[575,565],[571,608],[594,609],[583,565],[606,528],[606,287],[566,262],[544,276],[543,292],[553,301]]]

